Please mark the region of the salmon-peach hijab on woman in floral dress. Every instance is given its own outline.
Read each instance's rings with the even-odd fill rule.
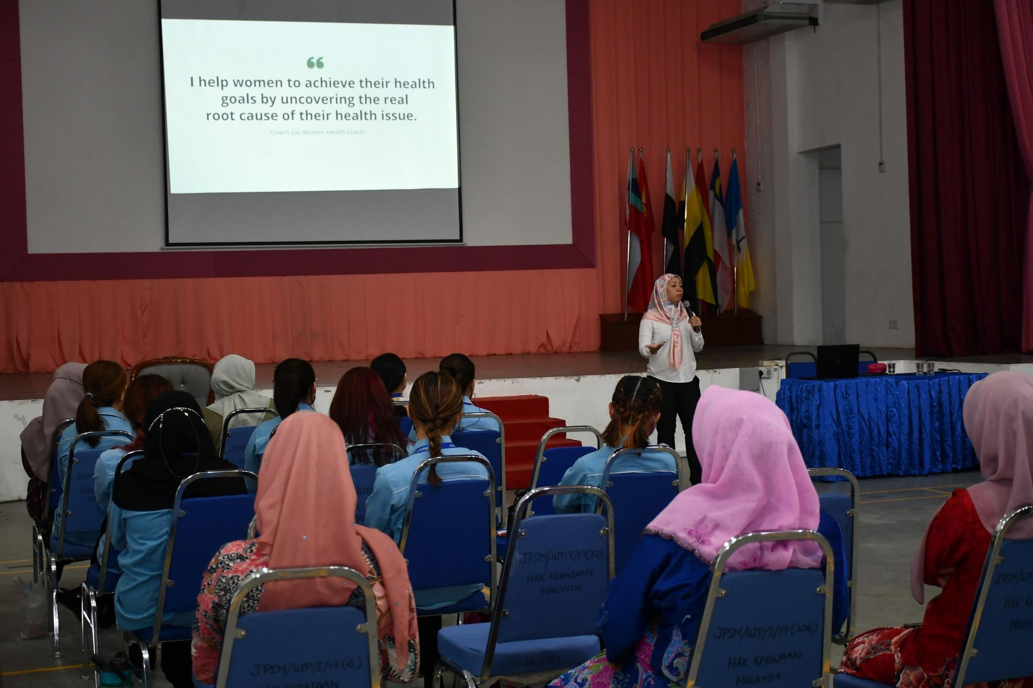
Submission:
[[[409,608],[409,572],[390,537],[355,525],[355,503],[348,454],[337,423],[322,414],[292,414],[285,419],[265,449],[259,472],[258,550],[268,554],[270,568],[338,565],[368,576],[366,540],[387,593],[399,665],[405,666],[408,638],[416,634],[416,618]],[[265,586],[258,609],[339,605],[354,588],[334,578],[272,583]]]

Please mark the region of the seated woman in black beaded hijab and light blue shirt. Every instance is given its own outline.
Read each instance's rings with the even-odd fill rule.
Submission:
[[[186,392],[166,392],[147,407],[145,455],[115,482],[112,493],[112,547],[120,550],[122,577],[115,588],[115,615],[121,630],[150,628],[158,603],[168,527],[180,483],[196,472],[233,469],[219,459],[206,431],[200,406]],[[240,479],[204,480],[192,497],[244,492]],[[191,626],[194,614],[165,615],[162,623]],[[190,644],[163,643],[161,668],[174,688],[192,686]]]

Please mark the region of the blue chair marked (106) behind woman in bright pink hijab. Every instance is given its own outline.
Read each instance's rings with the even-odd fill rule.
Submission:
[[[822,568],[725,570],[744,545],[795,539],[821,547]],[[828,540],[815,530],[754,532],[725,543],[714,559],[685,685],[827,686],[834,566]]]

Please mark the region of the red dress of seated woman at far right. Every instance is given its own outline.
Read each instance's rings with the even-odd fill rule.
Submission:
[[[929,600],[920,627],[876,628],[855,637],[840,670],[897,688],[950,688],[990,539],[968,491],[954,490],[926,538],[922,576],[943,592]],[[1033,688],[1033,679],[969,685]]]

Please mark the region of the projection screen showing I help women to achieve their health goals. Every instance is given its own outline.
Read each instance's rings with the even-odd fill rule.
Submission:
[[[445,24],[313,4],[379,19],[163,1],[169,244],[462,238],[451,3]]]

